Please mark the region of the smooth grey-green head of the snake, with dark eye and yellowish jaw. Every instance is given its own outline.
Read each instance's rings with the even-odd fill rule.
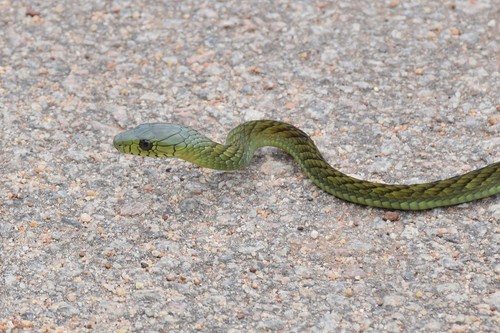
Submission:
[[[116,135],[113,146],[125,154],[149,157],[175,157],[186,148],[189,133],[180,125],[142,124]]]

